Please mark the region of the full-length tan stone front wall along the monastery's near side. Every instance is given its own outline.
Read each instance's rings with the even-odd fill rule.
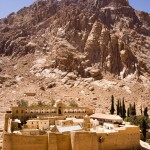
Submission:
[[[3,150],[138,150],[139,128],[115,133],[72,131],[25,136],[4,134]]]

